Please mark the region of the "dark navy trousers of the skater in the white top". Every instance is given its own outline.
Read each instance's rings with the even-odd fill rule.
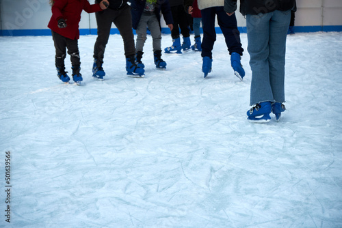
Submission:
[[[200,11],[202,14],[202,29],[203,29],[203,40],[202,40],[202,57],[212,58],[211,51],[213,50],[213,44],[216,40],[215,32],[215,16],[218,16],[218,25],[220,26],[226,45],[231,53],[239,53],[242,55],[244,48],[240,41],[240,33],[237,30],[237,20],[235,14],[228,16],[224,12],[222,7],[206,8]]]

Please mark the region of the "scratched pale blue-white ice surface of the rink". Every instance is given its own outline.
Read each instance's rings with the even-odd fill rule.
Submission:
[[[198,52],[156,70],[150,37],[145,78],[129,78],[111,35],[94,81],[95,40],[79,39],[77,86],[57,78],[50,36],[0,37],[0,226],[342,227],[342,33],[288,36],[287,111],[267,124],[246,119],[246,33],[242,82],[222,34],[206,79]]]

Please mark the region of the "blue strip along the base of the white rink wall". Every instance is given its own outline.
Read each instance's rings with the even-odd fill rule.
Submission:
[[[246,33],[246,27],[238,27],[240,33]],[[200,28],[201,33],[202,28]],[[216,33],[222,33],[220,27],[215,27]],[[342,25],[330,25],[330,26],[295,26],[294,27],[295,33],[310,33],[310,32],[330,32],[330,31],[342,31]],[[113,28],[111,29],[111,34],[119,34],[118,29]],[[133,30],[133,33],[135,31]],[[162,28],[161,33],[163,34],[170,34],[171,31],[168,28]],[[97,29],[79,29],[80,35],[97,35]],[[15,29],[15,30],[0,30],[0,36],[25,36],[25,35],[51,35],[50,29]]]

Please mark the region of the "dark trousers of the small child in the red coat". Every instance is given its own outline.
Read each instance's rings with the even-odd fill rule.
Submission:
[[[71,40],[63,35],[60,35],[52,31],[53,42],[55,43],[56,55],[55,64],[57,68],[64,70],[64,59],[66,57],[66,48],[68,48],[68,54],[70,55],[70,61],[72,66],[81,65],[79,58],[79,45],[78,40]]]

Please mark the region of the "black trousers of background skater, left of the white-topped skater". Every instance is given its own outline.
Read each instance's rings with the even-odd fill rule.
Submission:
[[[183,38],[190,36],[189,24],[187,23],[187,13],[184,10],[183,5],[175,5],[171,7],[171,13],[173,18],[173,29],[171,31],[172,39],[179,38],[179,28],[181,28],[181,33]]]

